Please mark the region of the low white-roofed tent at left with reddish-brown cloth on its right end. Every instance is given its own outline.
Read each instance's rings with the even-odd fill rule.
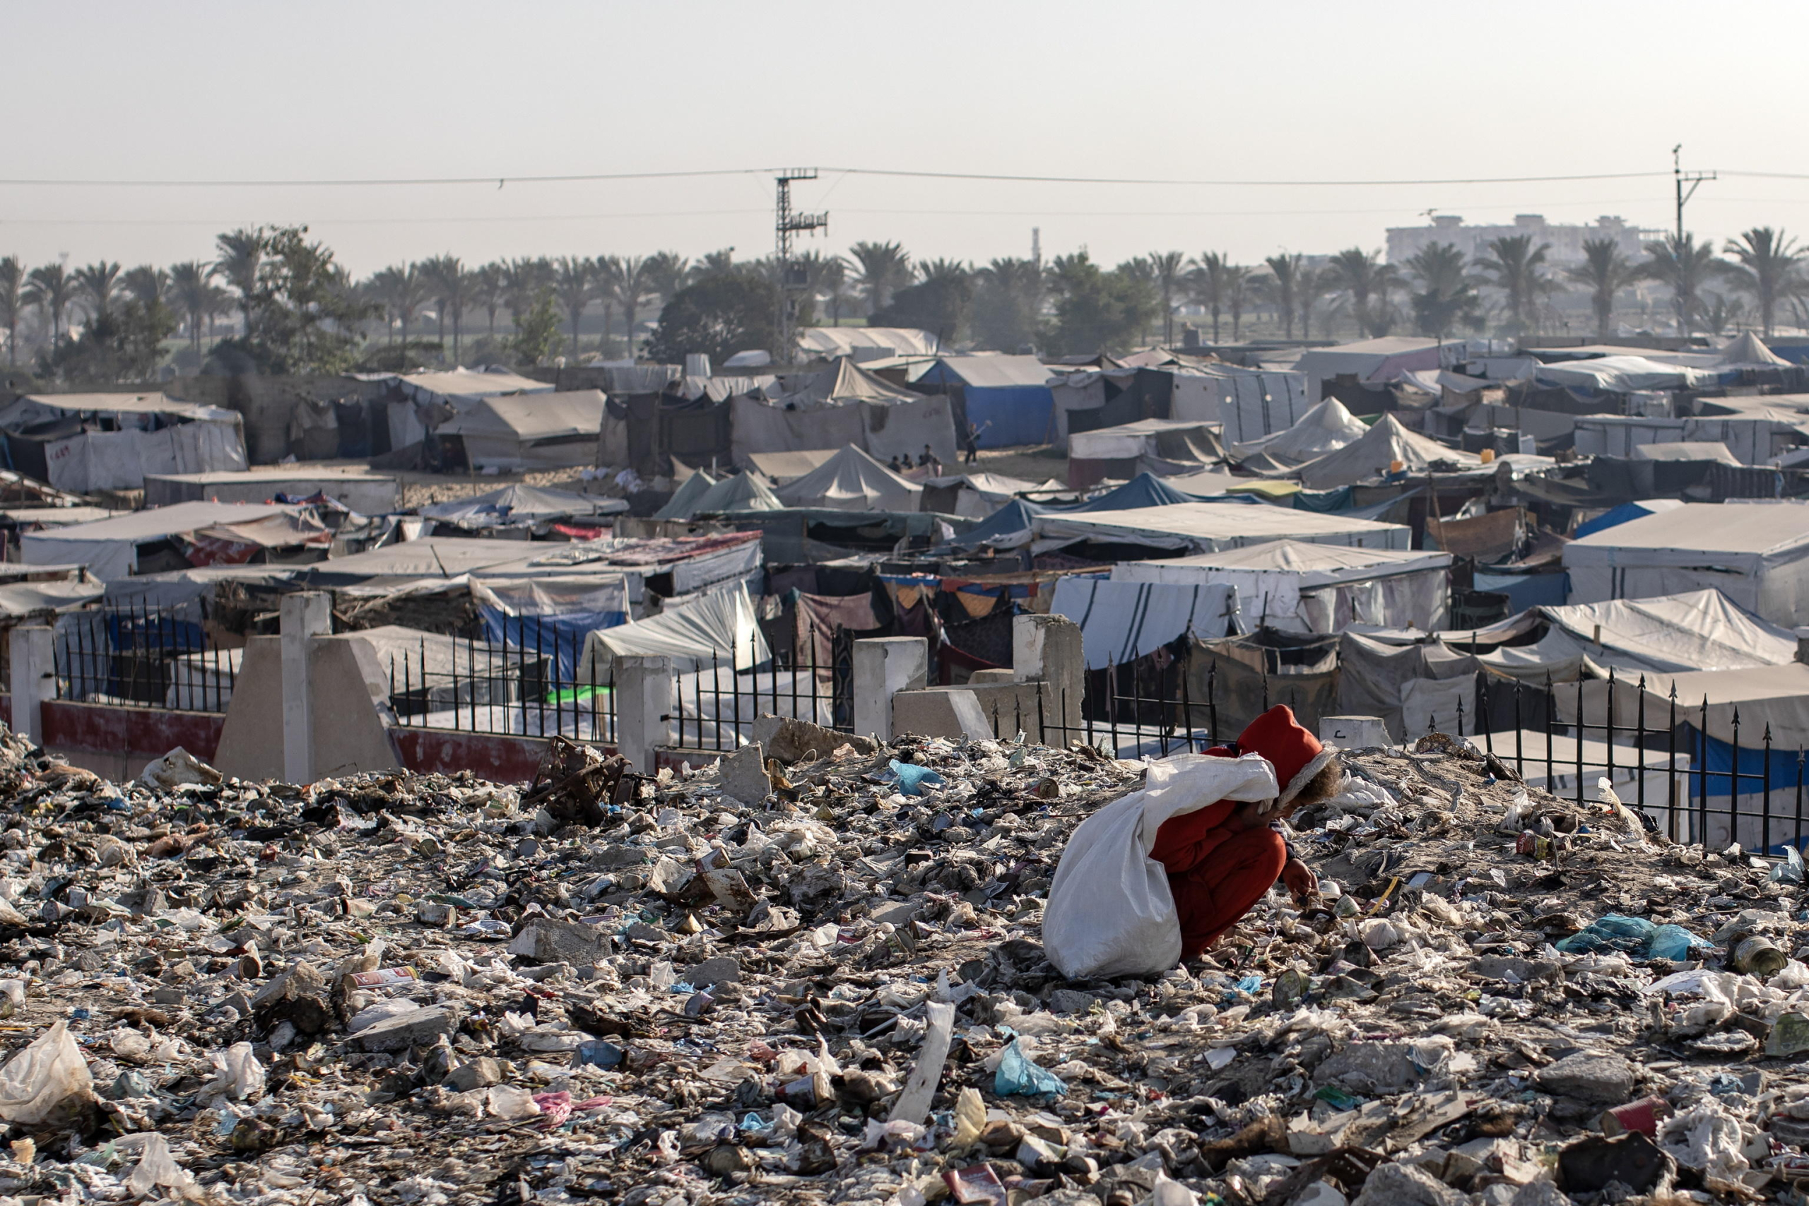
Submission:
[[[333,533],[297,506],[177,503],[67,528],[27,532],[20,553],[34,566],[87,566],[103,582],[137,573],[143,559],[181,542],[175,564],[244,562],[270,550],[324,550]],[[157,564],[157,570],[170,566]]]

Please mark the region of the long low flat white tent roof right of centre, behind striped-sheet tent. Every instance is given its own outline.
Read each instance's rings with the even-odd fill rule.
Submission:
[[[1037,551],[1078,541],[1219,551],[1263,541],[1407,548],[1411,530],[1321,512],[1254,503],[1172,503],[1122,512],[1047,512],[1031,519]]]

